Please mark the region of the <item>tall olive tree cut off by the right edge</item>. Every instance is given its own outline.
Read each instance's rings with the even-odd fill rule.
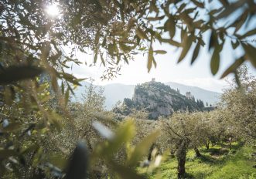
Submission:
[[[224,91],[220,107],[229,111],[232,130],[241,133],[244,140],[250,142],[255,140],[256,133],[256,79],[247,71],[247,66],[237,70],[240,86],[237,86],[234,79],[230,88]]]

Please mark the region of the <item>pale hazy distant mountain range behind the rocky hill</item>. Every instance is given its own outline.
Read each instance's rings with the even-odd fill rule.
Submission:
[[[191,92],[192,96],[194,96],[196,100],[203,100],[205,106],[206,103],[209,105],[216,104],[219,101],[219,97],[221,95],[221,93],[203,90],[202,88],[196,86],[186,86],[172,82],[165,84],[169,85],[173,90],[179,89],[179,92],[183,95],[185,95],[186,92]],[[74,90],[75,96],[73,97],[72,101],[82,101],[82,94],[85,92],[85,86],[88,86],[89,83],[82,82],[81,85],[82,86],[78,86],[77,89]],[[132,98],[135,91],[135,85],[125,85],[121,83],[108,84],[102,87],[104,87],[104,96],[106,97],[105,106],[107,110],[111,110],[112,107],[118,103],[118,101],[122,102],[125,98]]]

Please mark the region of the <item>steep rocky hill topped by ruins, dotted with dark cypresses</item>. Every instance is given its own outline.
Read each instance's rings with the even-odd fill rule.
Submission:
[[[114,108],[115,113],[125,116],[135,110],[145,111],[149,118],[156,119],[175,111],[203,110],[203,101],[196,102],[193,96],[184,96],[170,86],[152,80],[135,86],[132,99],[125,98],[121,106]]]

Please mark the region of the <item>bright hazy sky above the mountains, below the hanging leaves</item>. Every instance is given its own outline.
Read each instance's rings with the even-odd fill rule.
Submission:
[[[228,46],[229,42],[226,42]],[[173,48],[169,45],[155,45],[155,49],[165,49],[166,55],[157,55],[155,60],[157,62],[156,69],[152,67],[150,73],[147,69],[147,56],[138,55],[135,56],[135,61],[131,61],[129,65],[124,65],[121,69],[121,75],[117,78],[108,81],[101,81],[100,77],[103,74],[104,67],[100,64],[96,66],[85,66],[84,63],[80,66],[73,66],[72,73],[77,77],[92,77],[95,79],[97,85],[105,85],[109,83],[124,83],[124,84],[137,84],[144,83],[146,81],[155,78],[159,82],[176,82],[189,86],[198,86],[206,90],[212,90],[221,92],[227,82],[222,79],[220,75],[227,69],[228,65],[233,62],[234,56],[240,56],[241,54],[234,54],[232,49],[228,46],[224,46],[224,51],[221,53],[221,65],[220,72],[217,76],[213,76],[210,73],[210,53],[207,51],[207,46],[203,48],[202,52],[198,56],[193,66],[190,66],[190,60],[193,53],[193,48],[190,49],[183,62],[177,64],[177,59],[181,52],[181,49]],[[77,55],[81,62],[91,62],[92,56],[79,54]],[[254,75],[255,69],[249,64],[250,71]]]

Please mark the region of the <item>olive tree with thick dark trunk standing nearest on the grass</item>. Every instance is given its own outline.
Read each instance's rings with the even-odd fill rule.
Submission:
[[[197,115],[189,113],[176,113],[168,120],[161,120],[162,131],[167,135],[172,150],[176,152],[178,160],[178,178],[185,177],[186,152],[193,148],[197,156],[200,152],[197,146],[200,143],[201,133],[198,133]]]

